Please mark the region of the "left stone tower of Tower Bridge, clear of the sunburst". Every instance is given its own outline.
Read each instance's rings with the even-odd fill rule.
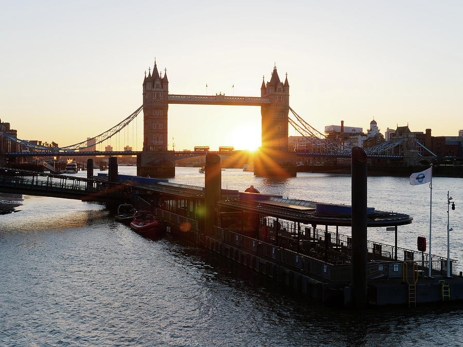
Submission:
[[[143,81],[143,152],[137,157],[137,175],[150,177],[175,176],[175,155],[167,151],[167,111],[169,81],[154,67],[145,72]]]

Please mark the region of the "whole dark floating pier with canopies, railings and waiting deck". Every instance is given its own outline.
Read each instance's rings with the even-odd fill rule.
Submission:
[[[397,242],[367,240],[368,227],[397,229],[413,218],[367,207],[362,167],[360,176],[352,176],[359,180],[353,182],[352,191],[359,202],[353,199],[352,207],[218,190],[220,162],[209,161],[208,168],[212,178],[206,177],[205,188],[165,181],[132,183],[133,204],[153,211],[177,237],[326,304],[362,308],[463,299],[463,277],[456,260],[450,261],[452,278],[448,279],[446,258],[429,259],[428,254],[397,247]],[[363,225],[355,218],[361,218]],[[339,233],[339,227],[353,224],[361,230]],[[425,276],[429,266],[432,278]]]

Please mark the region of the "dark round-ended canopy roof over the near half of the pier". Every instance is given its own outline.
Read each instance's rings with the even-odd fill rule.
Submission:
[[[284,199],[282,196],[240,193],[240,198],[222,199],[222,208],[258,213],[303,224],[350,227],[349,205],[321,204],[307,200]],[[367,208],[368,227],[389,227],[411,224],[413,217],[404,213],[377,211]]]

